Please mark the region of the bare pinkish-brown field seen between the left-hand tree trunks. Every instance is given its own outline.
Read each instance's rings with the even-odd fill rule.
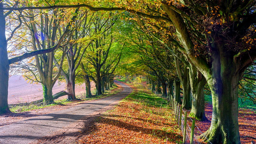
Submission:
[[[91,90],[95,89],[95,84],[91,82]],[[53,86],[52,94],[60,91],[67,91],[65,82],[56,82]],[[83,96],[85,91],[85,84],[76,84],[76,96]],[[62,96],[59,99],[66,98]],[[8,104],[17,104],[24,102],[32,102],[43,99],[43,87],[41,84],[30,84],[22,76],[11,76],[9,78],[8,87]]]

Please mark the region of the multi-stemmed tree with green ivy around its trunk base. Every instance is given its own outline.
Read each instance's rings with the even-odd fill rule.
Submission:
[[[49,18],[48,13],[43,14],[43,12],[41,11],[41,14],[38,15],[39,20],[36,20],[38,19],[38,17],[36,16],[37,14],[35,14],[35,12],[33,12],[32,10],[28,11],[28,13],[29,18],[26,19],[25,17],[22,17],[22,21],[27,27],[27,30],[30,32],[29,39],[31,40],[31,44],[28,44],[28,46],[24,46],[23,44],[21,44],[23,45],[22,47],[25,47],[27,50],[32,49],[33,51],[37,51],[54,46],[55,40],[59,37],[57,35],[57,30],[60,29],[60,24],[63,21],[63,12],[53,10],[52,15]],[[69,42],[68,37],[66,43],[64,44],[67,44]],[[31,47],[29,47],[29,45],[31,45]],[[57,47],[57,49],[58,48],[59,47]],[[66,51],[67,47],[64,46],[62,48],[62,51],[60,52],[60,68],[62,67]],[[25,74],[28,79],[42,84],[44,105],[53,103],[52,88],[60,76],[60,69],[55,69],[56,67],[54,68],[54,55],[56,55],[56,52],[36,55],[35,60],[32,60],[31,63],[23,66],[23,68],[28,70],[26,71],[27,74]],[[20,64],[17,63],[17,65]],[[28,76],[29,72],[31,72],[32,76]]]

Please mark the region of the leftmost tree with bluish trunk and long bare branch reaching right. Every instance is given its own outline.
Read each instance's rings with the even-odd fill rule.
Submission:
[[[9,4],[6,4],[8,7]],[[16,7],[18,4],[13,4],[13,7]],[[0,114],[2,113],[8,113],[10,112],[10,109],[8,107],[8,80],[9,80],[9,65],[13,64],[15,62],[18,62],[20,60],[24,60],[28,57],[32,57],[38,54],[43,54],[47,52],[53,52],[57,48],[60,47],[60,45],[63,42],[63,39],[66,37],[66,35],[70,32],[70,26],[72,25],[72,22],[74,19],[76,19],[76,15],[74,15],[71,20],[67,23],[67,26],[62,33],[62,35],[59,37],[58,41],[52,45],[52,47],[48,49],[41,49],[37,51],[32,51],[32,52],[25,52],[21,54],[16,54],[12,55],[10,58],[8,58],[8,52],[7,52],[7,43],[8,41],[12,38],[14,35],[15,31],[20,27],[18,25],[14,29],[12,29],[10,37],[6,39],[5,36],[5,18],[8,17],[13,11],[4,11],[4,4],[3,1],[0,0],[0,57],[1,57],[1,62],[0,62]],[[78,9],[76,9],[78,11]],[[21,13],[21,11],[20,11]],[[19,16],[17,16],[19,19]],[[11,27],[12,28],[12,27]]]

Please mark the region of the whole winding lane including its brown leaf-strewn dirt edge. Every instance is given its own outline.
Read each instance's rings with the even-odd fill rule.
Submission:
[[[120,82],[117,83],[124,89],[115,95],[2,126],[0,142],[8,144],[38,143],[40,141],[35,141],[36,139],[47,136],[51,140],[55,140],[56,143],[72,143],[76,139],[75,135],[86,129],[93,118],[112,108],[119,100],[132,92],[129,86]],[[56,135],[61,135],[63,138],[56,139],[59,137]]]

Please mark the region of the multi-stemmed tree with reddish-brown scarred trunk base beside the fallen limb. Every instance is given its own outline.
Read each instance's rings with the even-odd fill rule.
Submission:
[[[89,12],[88,10],[80,11],[79,18],[76,19],[75,25],[73,26],[74,32],[70,36],[70,44],[67,45],[68,52],[66,52],[66,61],[67,67],[62,68],[56,59],[54,63],[61,70],[61,75],[66,80],[67,91],[71,93],[68,95],[67,100],[75,100],[75,78],[76,70],[79,67],[83,55],[86,53],[86,49],[91,44],[92,39],[89,36],[89,31],[91,29],[92,23],[94,22],[95,16],[94,13]],[[86,76],[85,76],[86,77]]]

